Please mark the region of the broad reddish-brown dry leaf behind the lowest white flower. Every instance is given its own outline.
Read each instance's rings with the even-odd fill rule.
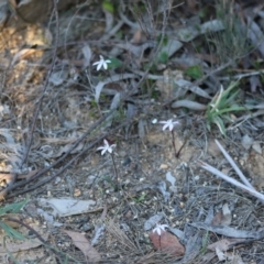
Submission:
[[[156,232],[151,232],[150,239],[156,250],[168,253],[172,256],[183,256],[185,254],[185,248],[179,243],[177,237],[169,232],[162,232],[161,235]]]

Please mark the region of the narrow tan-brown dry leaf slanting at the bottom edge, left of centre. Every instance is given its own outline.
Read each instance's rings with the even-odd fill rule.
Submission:
[[[70,237],[74,244],[84,253],[85,256],[88,257],[90,262],[98,262],[101,260],[98,251],[91,246],[90,242],[85,238],[84,234],[68,230],[64,230],[64,232]]]

